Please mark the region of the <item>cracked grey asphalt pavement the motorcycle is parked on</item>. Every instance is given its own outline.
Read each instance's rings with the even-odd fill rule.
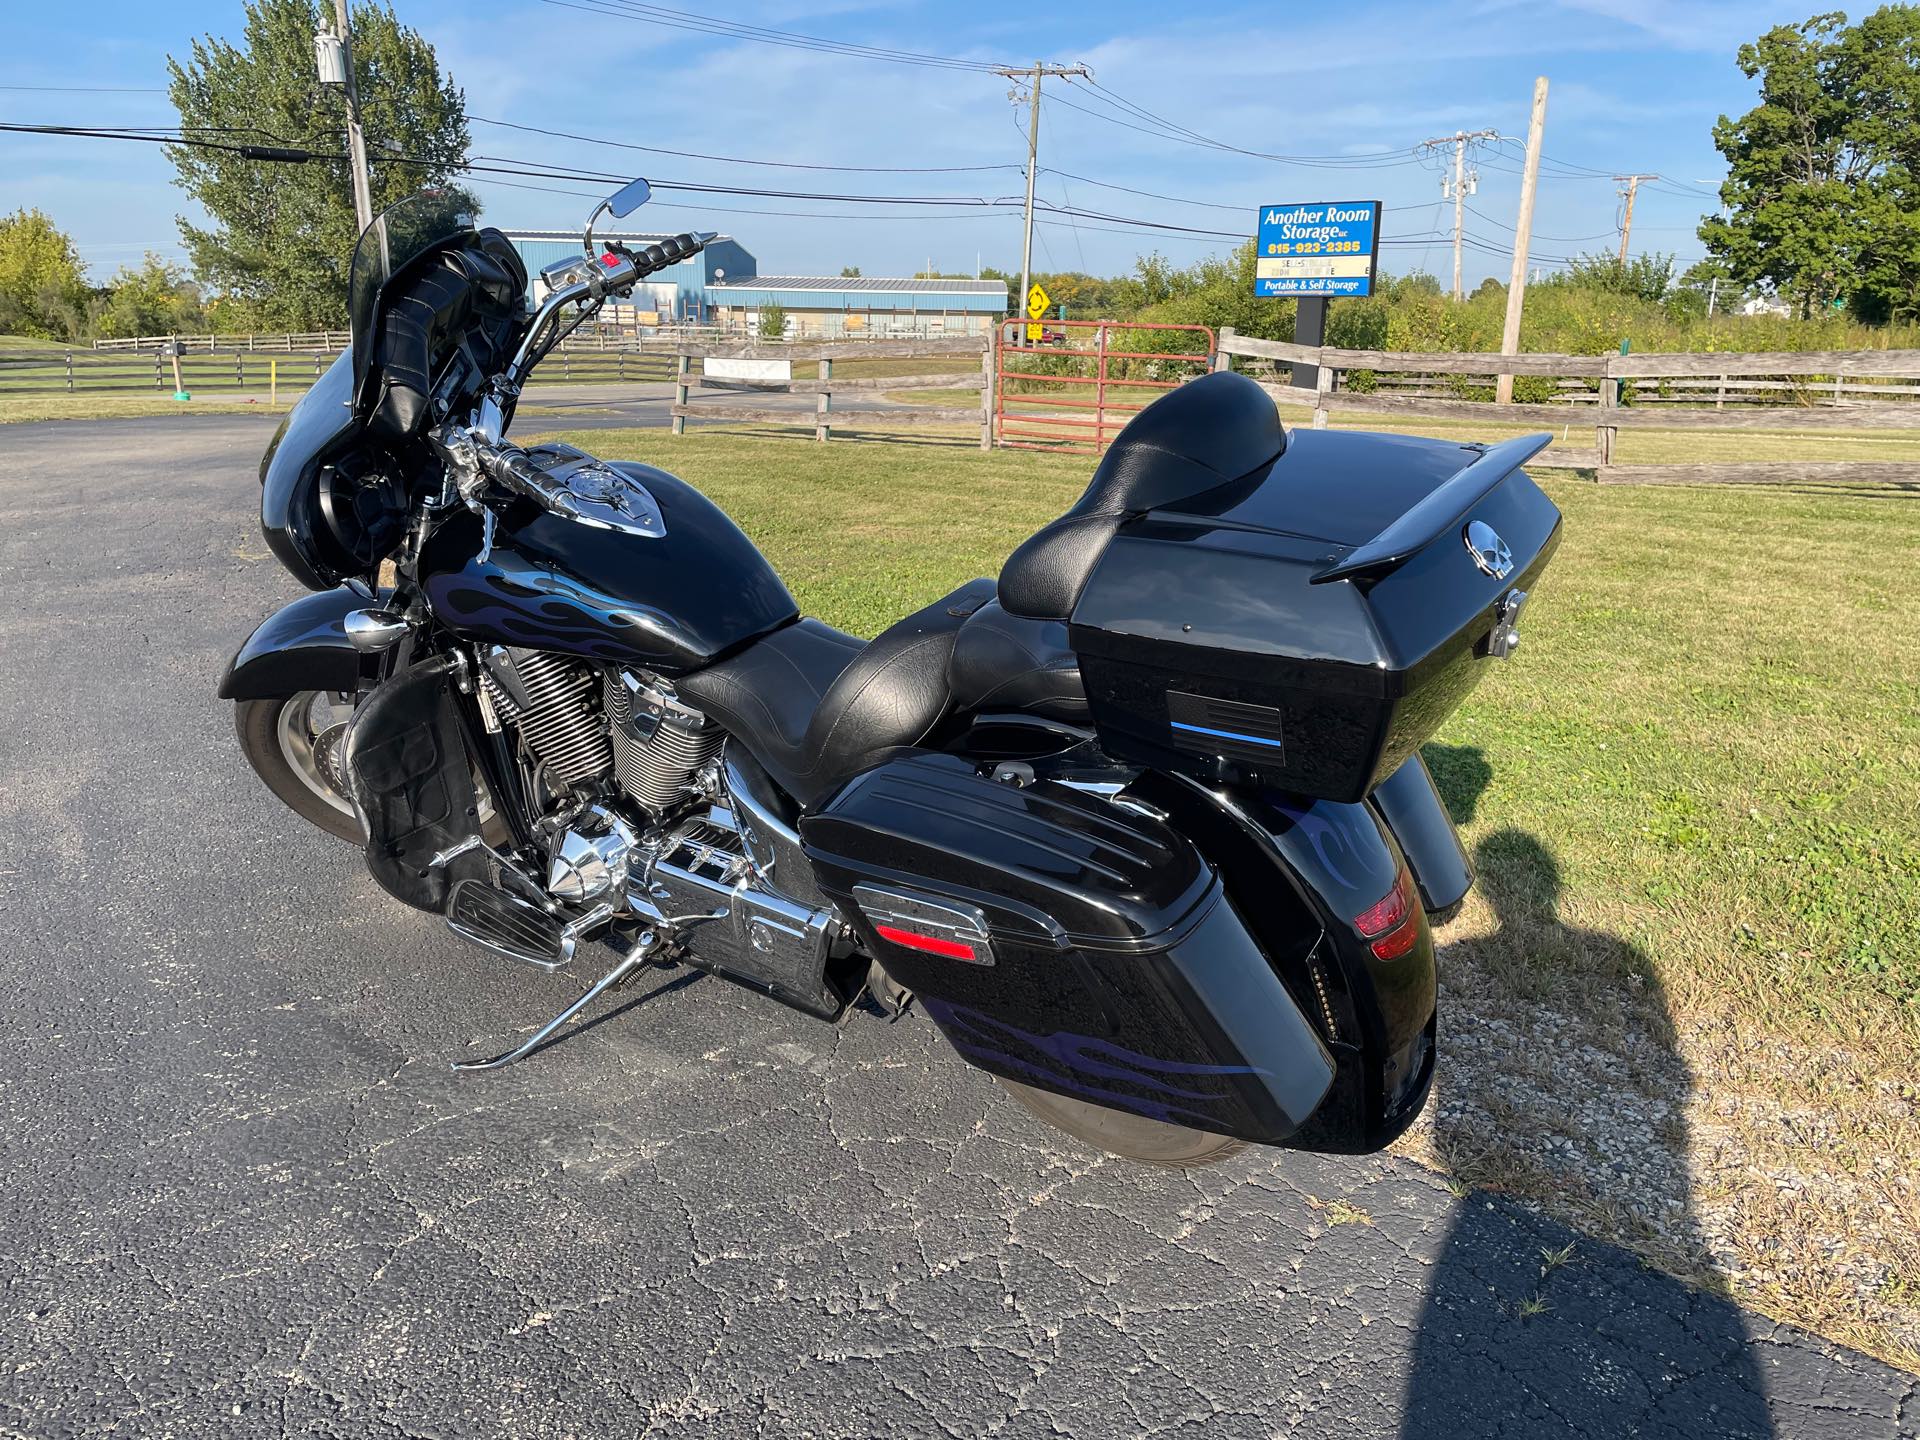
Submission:
[[[451,1073],[591,975],[240,758],[267,434],[0,426],[0,1434],[1916,1434],[1914,1377],[1405,1162],[1081,1152],[914,1016],[651,972]]]

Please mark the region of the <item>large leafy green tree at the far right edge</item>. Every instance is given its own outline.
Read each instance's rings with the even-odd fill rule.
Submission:
[[[1778,25],[1740,69],[1761,104],[1713,127],[1728,177],[1699,227],[1709,253],[1801,317],[1837,300],[1920,313],[1920,6]]]

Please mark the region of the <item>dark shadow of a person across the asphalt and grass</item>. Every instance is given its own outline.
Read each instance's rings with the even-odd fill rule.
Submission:
[[[1427,755],[1471,816],[1484,756]],[[1509,1177],[1599,1229],[1651,1217],[1678,1267],[1711,1269],[1692,1238],[1692,1077],[1653,966],[1559,918],[1559,866],[1536,837],[1496,831],[1475,860],[1498,924],[1440,952],[1436,1152],[1467,1185]],[[1736,1306],[1475,1188],[1432,1263],[1400,1434],[1768,1436],[1772,1423]]]

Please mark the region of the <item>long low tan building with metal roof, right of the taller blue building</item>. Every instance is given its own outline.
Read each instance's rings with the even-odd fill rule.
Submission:
[[[985,334],[1006,315],[1002,280],[918,280],[868,275],[728,275],[707,288],[718,321],[758,324],[780,305],[791,336]]]

